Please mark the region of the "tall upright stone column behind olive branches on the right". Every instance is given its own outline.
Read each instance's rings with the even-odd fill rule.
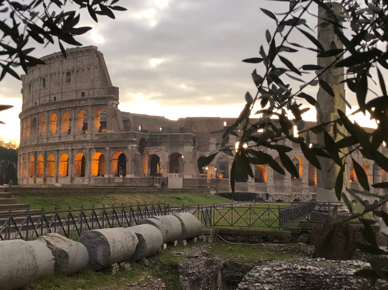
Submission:
[[[328,4],[333,11],[341,11],[340,5],[333,3]],[[322,7],[318,7],[318,41],[322,44],[325,50],[332,48],[343,48],[343,44],[334,31],[334,26],[324,19],[334,21],[333,17],[326,12]],[[335,57],[318,57],[317,64],[322,67],[329,66],[336,58]],[[327,93],[321,85],[317,94],[317,102],[320,106],[320,112],[317,110],[316,121],[317,124],[333,121],[337,119],[337,109],[345,112],[345,84],[341,83],[344,79],[344,68],[332,67],[324,72],[320,77],[320,80],[324,80],[330,84],[335,96],[333,97]],[[344,127],[337,126],[337,136],[335,136],[334,125],[326,126],[327,132],[332,136],[335,141],[342,139],[342,134],[346,134]],[[325,144],[324,134],[321,133],[317,136],[318,144]],[[340,171],[340,166],[333,164],[332,160],[326,158],[319,158],[322,170],[317,170],[317,190],[316,201],[317,202],[333,202],[338,203],[338,199],[335,194],[335,184],[337,175]],[[344,176],[344,182],[347,182],[348,178]]]

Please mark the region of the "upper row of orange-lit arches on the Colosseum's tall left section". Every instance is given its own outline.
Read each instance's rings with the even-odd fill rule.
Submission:
[[[72,121],[75,118],[75,128],[72,128]],[[47,134],[57,134],[58,129],[61,135],[86,134],[88,133],[88,114],[85,110],[78,112],[77,116],[72,116],[70,112],[65,112],[58,124],[57,114],[51,114],[46,119],[46,116],[33,118],[32,121],[27,120],[22,124],[22,139],[45,137]],[[93,133],[105,133],[107,130],[107,115],[103,108],[94,112],[93,116]]]

